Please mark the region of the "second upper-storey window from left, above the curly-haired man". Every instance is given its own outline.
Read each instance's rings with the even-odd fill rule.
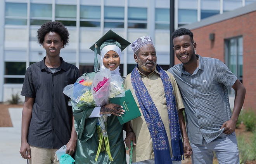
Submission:
[[[31,3],[30,24],[41,26],[45,22],[52,20],[52,5]]]

